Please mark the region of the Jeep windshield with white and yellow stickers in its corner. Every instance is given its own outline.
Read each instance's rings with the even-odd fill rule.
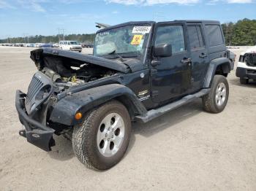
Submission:
[[[123,26],[102,31],[95,37],[94,55],[139,56],[143,53],[151,26]]]

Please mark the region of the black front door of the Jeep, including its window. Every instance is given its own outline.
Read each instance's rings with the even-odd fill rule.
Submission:
[[[168,101],[189,92],[191,63],[185,27],[185,23],[167,22],[157,23],[154,28],[154,45],[172,45],[170,57],[153,57],[151,62],[151,97],[154,102]]]

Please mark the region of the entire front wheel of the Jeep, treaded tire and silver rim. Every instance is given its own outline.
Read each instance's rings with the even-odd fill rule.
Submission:
[[[72,133],[75,155],[88,168],[106,170],[124,156],[131,132],[126,107],[110,101],[89,112]]]

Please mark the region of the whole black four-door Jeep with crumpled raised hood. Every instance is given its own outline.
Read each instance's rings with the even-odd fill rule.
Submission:
[[[148,122],[202,98],[219,113],[232,68],[217,21],[129,22],[97,31],[93,55],[31,51],[38,71],[16,92],[20,136],[50,151],[53,133],[72,133],[81,163],[105,170],[129,144],[132,122]]]

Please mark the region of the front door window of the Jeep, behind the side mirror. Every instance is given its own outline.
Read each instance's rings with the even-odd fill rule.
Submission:
[[[173,53],[185,51],[184,31],[182,26],[159,26],[155,45],[171,44]]]

